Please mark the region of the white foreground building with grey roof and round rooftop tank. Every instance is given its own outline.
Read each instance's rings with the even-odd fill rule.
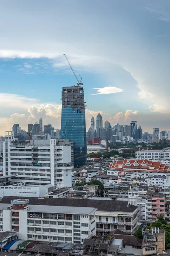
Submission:
[[[82,244],[96,234],[95,212],[94,207],[31,205],[29,199],[14,199],[0,204],[1,231],[15,231],[25,240]]]

